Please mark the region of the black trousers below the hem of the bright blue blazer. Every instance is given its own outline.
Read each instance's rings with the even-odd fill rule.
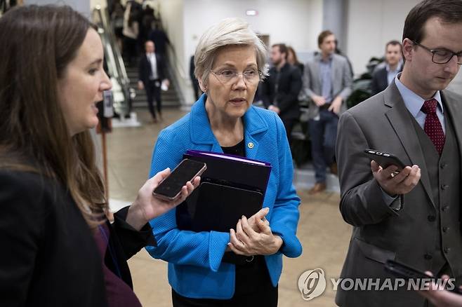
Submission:
[[[173,307],[277,307],[277,286],[273,287],[263,256],[236,266],[235,295],[231,299],[190,299],[172,289]]]

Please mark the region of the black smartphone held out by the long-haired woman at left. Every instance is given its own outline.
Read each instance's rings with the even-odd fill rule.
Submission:
[[[201,175],[207,169],[206,163],[184,159],[178,166],[172,170],[169,177],[166,177],[152,194],[163,200],[174,200],[180,196],[181,188],[186,182],[191,181],[194,177]]]

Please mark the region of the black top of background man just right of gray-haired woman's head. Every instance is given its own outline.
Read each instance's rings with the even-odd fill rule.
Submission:
[[[279,110],[279,117],[284,119],[298,118],[298,94],[302,88],[300,69],[286,63],[280,71],[276,67],[270,69],[270,75],[262,83],[261,95],[263,104],[268,108],[275,104]]]

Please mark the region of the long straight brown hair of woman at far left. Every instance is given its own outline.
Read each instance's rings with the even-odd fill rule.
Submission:
[[[39,172],[70,192],[90,226],[107,210],[88,131],[71,137],[58,79],[93,27],[69,6],[20,6],[0,18],[0,168]]]

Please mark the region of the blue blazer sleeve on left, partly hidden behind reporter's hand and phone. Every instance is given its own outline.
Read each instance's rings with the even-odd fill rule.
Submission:
[[[162,130],[152,155],[150,177],[165,168],[175,168],[187,148],[172,130]],[[176,208],[150,221],[157,247],[147,247],[152,257],[172,264],[201,266],[217,271],[230,242],[229,233],[218,231],[180,230],[176,224]]]

